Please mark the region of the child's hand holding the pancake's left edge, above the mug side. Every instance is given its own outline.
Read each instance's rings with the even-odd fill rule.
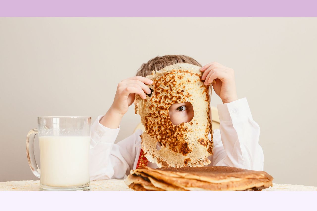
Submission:
[[[142,76],[134,76],[122,80],[117,87],[117,92],[111,105],[111,110],[118,114],[124,115],[128,107],[134,102],[135,94],[139,94],[142,99],[146,99],[146,93],[150,94],[151,90],[146,84],[152,84],[153,81]]]

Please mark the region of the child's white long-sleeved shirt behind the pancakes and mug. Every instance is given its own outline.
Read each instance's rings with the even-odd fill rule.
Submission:
[[[209,166],[231,166],[263,170],[263,151],[259,145],[260,127],[253,121],[246,98],[217,105],[220,129],[214,130],[214,152]],[[91,128],[89,155],[90,180],[124,178],[136,169],[141,152],[141,130],[114,144],[119,133],[99,123],[98,116]],[[210,134],[209,134],[210,138]],[[148,162],[148,167],[158,168]]]

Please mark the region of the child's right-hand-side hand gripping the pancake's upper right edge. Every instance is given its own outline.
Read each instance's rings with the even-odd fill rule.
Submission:
[[[211,84],[223,103],[230,103],[238,99],[232,68],[225,67],[218,62],[211,62],[201,67],[200,71],[204,72],[201,79],[205,81],[206,86],[215,80],[216,83]]]

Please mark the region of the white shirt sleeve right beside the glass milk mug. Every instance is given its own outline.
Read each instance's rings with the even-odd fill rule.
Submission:
[[[90,180],[124,178],[133,168],[137,134],[132,134],[118,144],[114,144],[120,126],[117,129],[107,128],[99,123],[102,117],[98,116],[91,127]]]

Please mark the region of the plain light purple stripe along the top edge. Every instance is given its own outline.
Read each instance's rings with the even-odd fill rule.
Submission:
[[[316,0],[0,0],[2,17],[317,16]]]

